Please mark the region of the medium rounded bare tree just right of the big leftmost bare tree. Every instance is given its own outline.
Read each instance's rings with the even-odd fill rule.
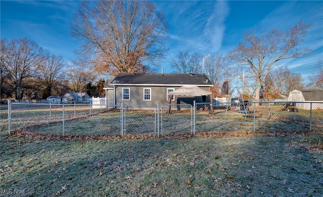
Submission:
[[[40,77],[40,84],[42,84],[45,93],[44,98],[51,96],[52,88],[59,80],[62,80],[66,72],[67,62],[62,56],[51,54],[46,56],[37,65],[37,73]]]

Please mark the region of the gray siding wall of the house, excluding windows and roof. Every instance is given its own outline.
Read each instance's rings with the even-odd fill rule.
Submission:
[[[118,86],[115,87],[115,98],[116,104],[120,105],[123,102],[125,105],[163,105],[168,104],[167,101],[167,90],[174,89],[177,90],[181,86]],[[123,88],[130,89],[130,100],[122,100],[123,98]],[[144,100],[144,89],[151,90],[151,98],[150,100]],[[209,87],[199,87],[206,91],[209,91]],[[109,91],[108,91],[109,92]],[[199,103],[203,102],[202,97],[188,97],[188,96],[175,96],[175,101],[172,100],[172,104],[191,104],[193,105],[194,100]],[[206,97],[206,102],[208,98]]]

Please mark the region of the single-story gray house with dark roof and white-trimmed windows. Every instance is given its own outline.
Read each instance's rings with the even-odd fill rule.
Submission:
[[[155,73],[120,73],[104,89],[106,100],[120,105],[161,105],[168,104],[168,93],[185,85],[194,85],[206,91],[212,83],[204,74],[155,74]],[[175,104],[192,104],[203,102],[202,96],[174,95]],[[206,100],[208,101],[208,98]]]

